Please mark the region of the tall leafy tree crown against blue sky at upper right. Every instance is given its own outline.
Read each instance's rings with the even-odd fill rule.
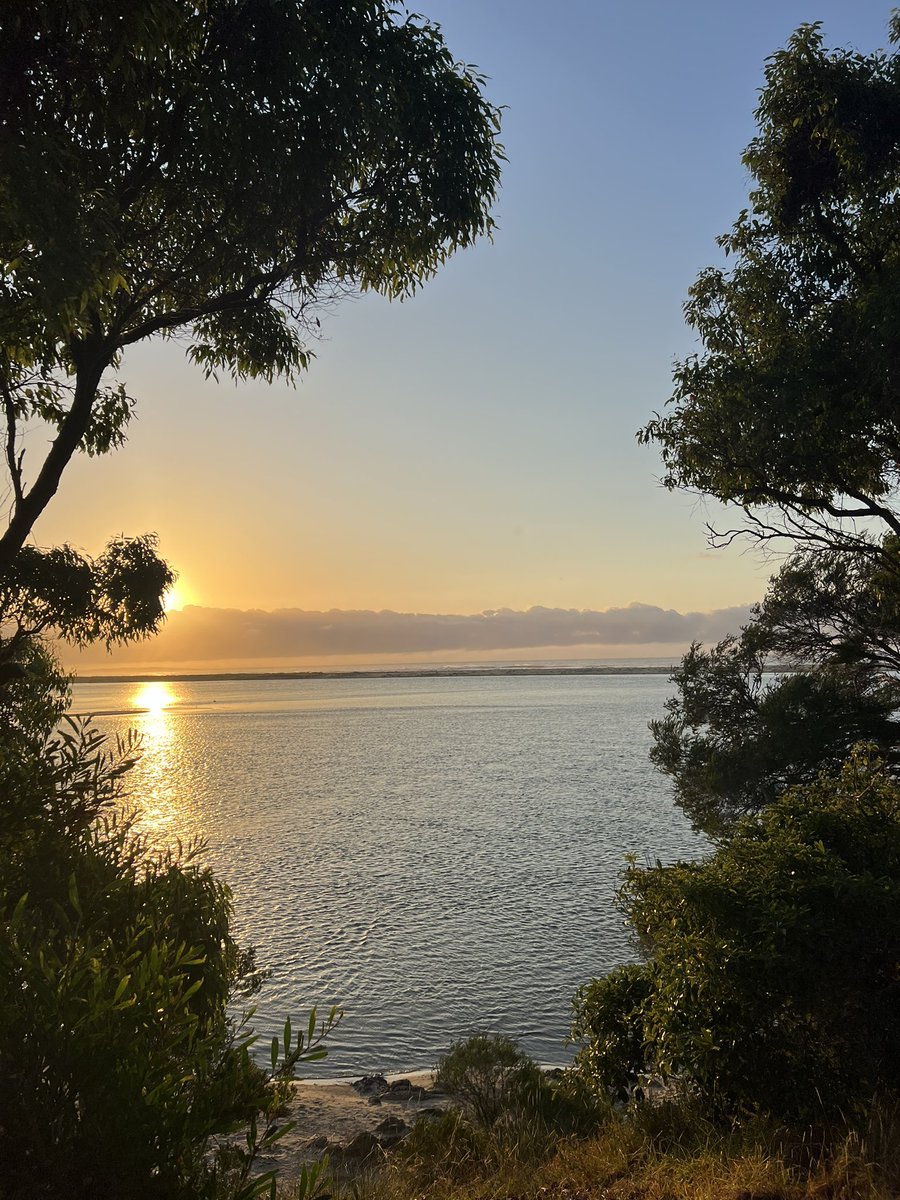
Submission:
[[[685,306],[703,352],[641,437],[668,487],[743,506],[746,532],[878,557],[900,534],[900,58],[828,50],[804,25],[756,116],[750,205],[719,240],[733,265]]]

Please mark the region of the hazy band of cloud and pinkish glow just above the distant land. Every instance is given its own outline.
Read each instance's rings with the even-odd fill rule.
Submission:
[[[468,614],[187,605],[170,612],[154,638],[113,650],[61,646],[60,658],[66,668],[83,673],[674,659],[692,641],[737,634],[749,617],[749,605],[688,613],[631,604],[604,611],[533,606]]]

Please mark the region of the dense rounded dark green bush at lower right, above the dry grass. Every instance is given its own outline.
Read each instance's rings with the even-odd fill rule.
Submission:
[[[594,1086],[658,1075],[712,1114],[809,1121],[895,1081],[900,786],[866,752],[703,862],[632,864],[620,902],[647,962],[576,1001]]]

